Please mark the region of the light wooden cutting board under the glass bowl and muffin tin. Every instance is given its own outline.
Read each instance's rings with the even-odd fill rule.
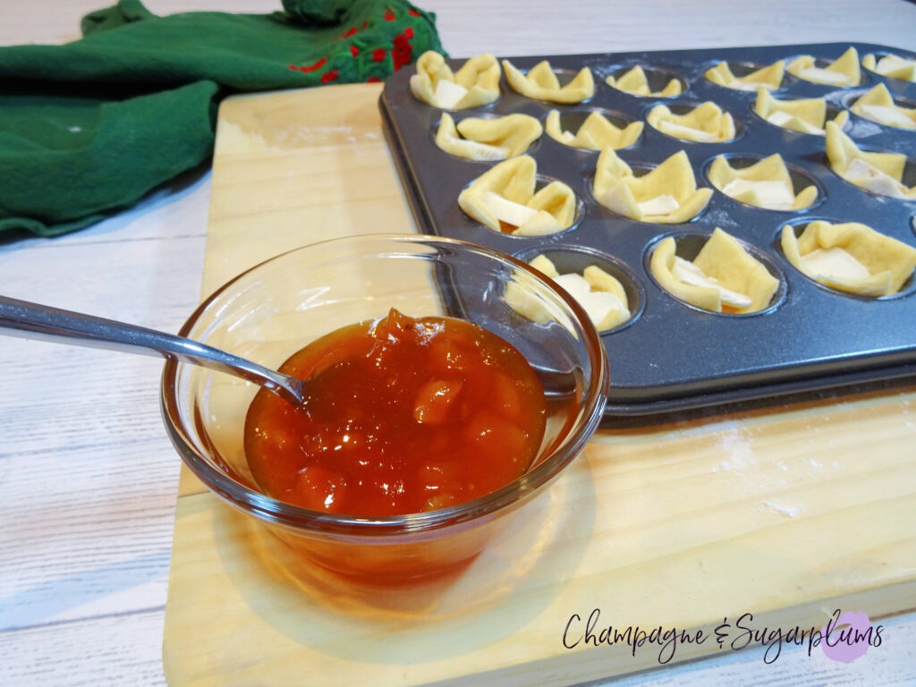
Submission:
[[[380,92],[224,102],[202,295],[299,245],[413,231]],[[560,685],[724,655],[745,640],[734,627],[745,613],[745,627],[788,630],[822,627],[834,609],[911,609],[914,446],[912,386],[610,427],[470,570],[409,594],[288,579],[269,562],[272,540],[184,471],[166,675],[175,687]],[[594,647],[582,636],[596,609],[595,632],[706,639],[673,655],[651,638]]]

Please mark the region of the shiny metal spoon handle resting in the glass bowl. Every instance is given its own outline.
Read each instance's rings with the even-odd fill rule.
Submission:
[[[242,377],[273,391],[293,405],[305,403],[304,384],[296,377],[283,375],[192,339],[125,322],[0,296],[0,333],[125,353],[158,354]]]

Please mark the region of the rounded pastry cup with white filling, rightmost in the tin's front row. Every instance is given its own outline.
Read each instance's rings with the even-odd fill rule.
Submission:
[[[898,293],[916,268],[916,248],[856,222],[818,220],[799,236],[787,224],[780,244],[786,259],[802,274],[860,296]]]

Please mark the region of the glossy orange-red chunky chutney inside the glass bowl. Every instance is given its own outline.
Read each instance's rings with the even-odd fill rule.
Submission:
[[[297,506],[355,517],[453,506],[518,478],[543,439],[540,380],[471,322],[392,309],[280,371],[308,380],[306,403],[258,391],[245,456],[267,495]]]

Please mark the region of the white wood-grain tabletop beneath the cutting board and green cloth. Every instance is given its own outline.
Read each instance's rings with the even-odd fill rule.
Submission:
[[[5,3],[0,44],[77,38],[80,17],[103,4]],[[278,5],[147,3],[158,14]],[[916,5],[903,0],[621,5],[421,4],[437,13],[455,57],[834,41],[916,50]],[[82,232],[0,236],[0,293],[176,331],[200,297],[209,200],[209,170],[198,169]],[[161,363],[0,338],[0,369],[0,685],[165,684],[161,639],[179,459],[158,416]],[[616,684],[916,683],[916,615],[881,624],[884,645],[848,664],[804,651],[767,664],[761,651],[747,650]]]

